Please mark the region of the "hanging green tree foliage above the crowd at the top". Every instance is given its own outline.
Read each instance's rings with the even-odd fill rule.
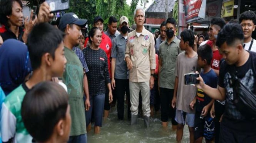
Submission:
[[[28,6],[31,8],[39,6],[45,0],[28,0]],[[94,17],[100,15],[104,19],[104,28],[107,28],[109,17],[115,16],[119,23],[121,16],[127,16],[129,24],[134,23],[133,12],[138,5],[145,8],[148,0],[132,0],[131,6],[127,5],[126,0],[70,0],[69,10],[65,12],[74,12],[79,18],[86,18],[91,27]]]

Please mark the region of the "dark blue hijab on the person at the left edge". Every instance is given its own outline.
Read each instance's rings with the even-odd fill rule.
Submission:
[[[25,81],[32,71],[27,46],[8,39],[0,47],[0,86],[7,96]]]

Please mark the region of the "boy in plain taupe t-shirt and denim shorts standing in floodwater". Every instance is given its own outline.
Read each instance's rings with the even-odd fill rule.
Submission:
[[[176,106],[175,120],[177,121],[176,140],[182,140],[183,128],[185,123],[189,127],[189,140],[194,141],[194,119],[195,109],[190,105],[194,105],[196,101],[196,87],[185,85],[184,74],[195,72],[197,69],[197,53],[192,49],[194,44],[194,32],[184,30],[181,32],[181,42],[179,46],[181,50],[185,50],[177,57],[175,70],[174,95],[172,98],[172,107]],[[194,103],[193,103],[194,102]]]

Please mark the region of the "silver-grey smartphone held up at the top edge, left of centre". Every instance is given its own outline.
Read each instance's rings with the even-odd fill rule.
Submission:
[[[51,13],[69,9],[69,0],[45,0],[51,9]]]

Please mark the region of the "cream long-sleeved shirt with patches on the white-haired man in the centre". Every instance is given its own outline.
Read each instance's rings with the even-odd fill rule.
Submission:
[[[125,58],[132,60],[132,69],[129,71],[129,81],[145,82],[150,80],[150,70],[156,68],[156,50],[153,34],[144,27],[141,35],[136,30],[128,34],[125,48]]]

